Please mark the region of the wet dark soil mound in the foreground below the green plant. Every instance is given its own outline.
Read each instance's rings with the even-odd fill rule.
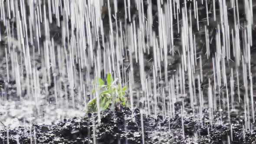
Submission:
[[[217,118],[217,117],[216,117]],[[216,118],[214,118],[216,120]],[[228,126],[210,124],[207,116],[204,122],[184,118],[184,135],[182,118],[176,115],[173,119],[163,119],[158,115],[153,118],[143,115],[145,144],[225,144],[231,132]],[[230,144],[251,144],[256,141],[256,130],[245,132],[241,124],[234,124],[233,141]],[[95,133],[95,137],[93,137]],[[97,113],[89,113],[84,117],[64,119],[54,125],[33,124],[31,128],[23,127],[0,131],[0,143],[20,144],[142,144],[141,114],[138,109],[115,108],[101,112],[101,122]],[[36,136],[36,137],[35,137]]]

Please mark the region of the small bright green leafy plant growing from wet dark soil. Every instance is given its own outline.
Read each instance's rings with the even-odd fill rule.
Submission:
[[[107,109],[110,105],[126,106],[127,98],[125,97],[125,90],[127,86],[121,87],[116,84],[118,79],[113,80],[111,73],[107,75],[107,85],[100,78],[95,78],[93,84],[96,85],[92,91],[92,95],[98,92],[95,98],[87,103],[87,112],[97,111],[97,97],[99,98],[99,108],[101,111]]]

